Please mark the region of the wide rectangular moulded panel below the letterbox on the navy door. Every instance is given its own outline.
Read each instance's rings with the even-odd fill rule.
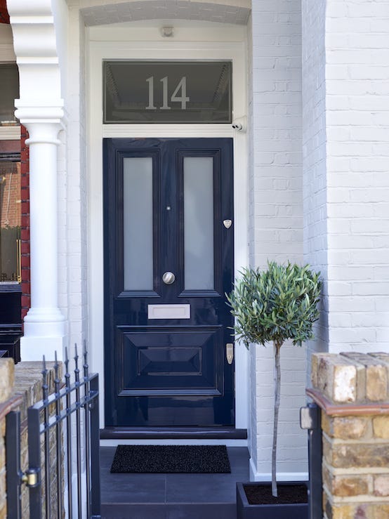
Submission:
[[[118,394],[220,395],[221,327],[121,328]],[[118,360],[119,360],[118,358]],[[219,364],[219,365],[216,365]],[[221,364],[221,365],[220,365]]]

